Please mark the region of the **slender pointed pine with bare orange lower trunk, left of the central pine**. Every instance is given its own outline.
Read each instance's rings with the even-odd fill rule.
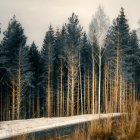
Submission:
[[[49,31],[46,33],[44,39],[43,48],[41,50],[42,62],[44,65],[43,82],[44,82],[44,90],[46,92],[45,115],[48,117],[52,116],[52,103],[53,103],[52,72],[53,72],[53,61],[55,58],[54,45],[55,45],[54,31],[52,26],[50,25]]]

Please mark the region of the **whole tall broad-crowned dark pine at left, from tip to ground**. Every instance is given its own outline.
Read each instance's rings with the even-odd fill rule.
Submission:
[[[15,16],[10,20],[7,30],[4,32],[4,38],[1,42],[2,50],[6,58],[6,71],[5,75],[8,75],[4,79],[5,88],[2,90],[5,92],[5,111],[7,112],[6,116],[10,118],[10,93],[11,93],[11,82],[16,77],[16,68],[17,68],[17,54],[19,48],[24,46],[26,43],[26,37],[24,35],[24,30],[21,27],[21,24],[16,20]],[[16,81],[15,81],[16,82]],[[5,90],[7,89],[7,90]],[[9,91],[9,93],[7,93]],[[6,97],[7,96],[7,97]],[[13,115],[14,116],[14,115]],[[8,118],[7,118],[8,119]]]

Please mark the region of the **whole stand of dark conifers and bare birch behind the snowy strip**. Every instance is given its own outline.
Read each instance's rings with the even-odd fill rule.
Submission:
[[[110,24],[99,7],[89,25],[72,13],[39,50],[13,16],[0,42],[0,121],[122,112],[140,99],[139,30],[123,8]]]

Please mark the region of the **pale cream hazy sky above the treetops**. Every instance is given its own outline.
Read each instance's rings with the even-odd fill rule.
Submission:
[[[61,27],[72,12],[78,14],[80,24],[88,32],[89,23],[99,5],[104,7],[111,21],[124,7],[130,27],[138,27],[140,0],[0,0],[1,28],[4,31],[15,14],[25,29],[27,43],[34,40],[40,48],[49,24]]]

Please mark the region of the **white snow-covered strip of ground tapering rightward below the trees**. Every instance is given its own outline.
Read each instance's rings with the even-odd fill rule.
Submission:
[[[100,114],[100,118],[117,117],[120,113]],[[57,127],[69,126],[83,122],[98,120],[98,114],[85,114],[70,117],[36,118],[0,122],[0,139],[12,136],[49,130]]]

